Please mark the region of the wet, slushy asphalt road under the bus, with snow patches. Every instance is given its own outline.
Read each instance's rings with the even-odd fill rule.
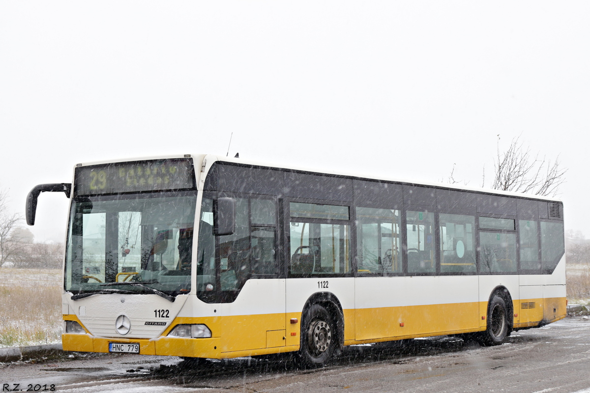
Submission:
[[[487,348],[453,336],[352,346],[319,370],[298,370],[289,356],[205,365],[165,356],[70,356],[0,364],[0,391],[590,393],[588,317],[513,332],[506,344]]]

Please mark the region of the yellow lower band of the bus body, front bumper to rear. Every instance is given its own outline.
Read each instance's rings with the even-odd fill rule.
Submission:
[[[514,300],[514,328],[526,328],[565,318],[565,298]],[[392,341],[486,329],[487,302],[344,310],[345,345]],[[65,321],[77,321],[64,315]],[[169,337],[181,323],[204,323],[212,338]],[[62,335],[64,351],[109,352],[110,342],[136,342],[143,355],[195,358],[235,358],[298,351],[301,313],[176,318],[156,339],[101,338],[86,334]]]

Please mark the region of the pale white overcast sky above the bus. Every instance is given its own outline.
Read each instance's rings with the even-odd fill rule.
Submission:
[[[520,136],[590,237],[590,2],[0,1],[0,186],[76,163],[230,154],[481,186]],[[489,184],[486,184],[489,186]],[[40,197],[41,241],[67,199]]]

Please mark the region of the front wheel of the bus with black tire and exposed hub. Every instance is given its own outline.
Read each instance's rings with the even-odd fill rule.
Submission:
[[[303,368],[325,366],[337,346],[336,326],[330,313],[314,304],[306,309],[301,324],[301,348],[297,360]]]

